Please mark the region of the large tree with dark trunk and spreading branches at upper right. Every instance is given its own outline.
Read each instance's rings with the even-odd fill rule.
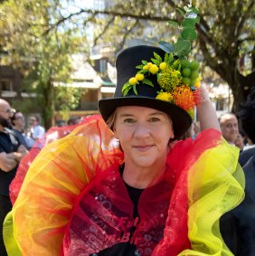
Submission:
[[[115,1],[104,10],[80,8],[76,13],[59,16],[55,25],[80,14],[87,14],[83,24],[91,21],[97,26],[95,43],[109,43],[117,52],[127,40],[140,38],[144,42],[156,43],[176,32],[165,29],[165,22],[180,20],[174,16],[177,7],[182,8],[191,1]],[[195,1],[194,1],[195,2]],[[255,81],[255,2],[253,0],[208,0],[196,1],[201,22],[196,25],[198,47],[203,62],[226,81],[233,93],[236,110],[246,99]],[[103,16],[102,16],[103,15]],[[148,29],[148,28],[153,28]],[[245,66],[241,62],[245,61]]]

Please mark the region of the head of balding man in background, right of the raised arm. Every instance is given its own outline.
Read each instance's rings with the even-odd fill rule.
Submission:
[[[233,113],[224,113],[219,119],[222,129],[222,137],[224,137],[231,145],[234,145],[238,136],[238,120]]]

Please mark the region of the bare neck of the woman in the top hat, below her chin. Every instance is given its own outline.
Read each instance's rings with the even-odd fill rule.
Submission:
[[[155,185],[165,173],[165,163],[162,166],[137,167],[125,162],[122,178],[132,187],[146,188]]]

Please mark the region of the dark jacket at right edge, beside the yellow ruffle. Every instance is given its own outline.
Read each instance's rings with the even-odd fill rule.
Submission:
[[[255,256],[255,152],[242,167],[245,175],[245,198],[221,218],[224,242],[236,256]]]

